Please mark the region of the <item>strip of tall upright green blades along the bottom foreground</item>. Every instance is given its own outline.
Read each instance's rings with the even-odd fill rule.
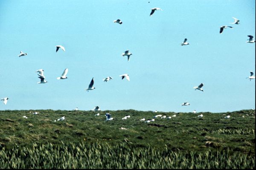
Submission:
[[[230,153],[229,150],[204,152],[172,151],[165,147],[134,147],[120,143],[70,143],[65,145],[33,144],[0,150],[0,167],[5,168],[140,168],[140,169],[253,169],[255,156]]]

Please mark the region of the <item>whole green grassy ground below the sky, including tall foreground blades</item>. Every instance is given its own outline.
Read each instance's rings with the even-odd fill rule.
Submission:
[[[176,113],[150,123],[139,120],[175,113],[29,112],[0,111],[0,168],[255,167],[253,110],[208,112],[202,118]],[[106,122],[106,112],[114,119]],[[131,118],[122,120],[125,115]],[[53,122],[62,116],[66,120]]]

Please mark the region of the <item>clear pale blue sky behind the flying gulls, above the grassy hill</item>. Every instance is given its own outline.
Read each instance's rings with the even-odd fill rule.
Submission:
[[[150,17],[154,7],[163,11]],[[234,28],[219,34],[225,25]],[[9,100],[0,110],[255,108],[255,79],[246,79],[255,74],[255,43],[245,43],[247,35],[255,40],[255,0],[1,0],[0,99]],[[45,84],[37,83],[41,68]],[[57,80],[65,68],[68,79]],[[93,77],[96,89],[86,92]],[[204,92],[195,91],[201,83]]]

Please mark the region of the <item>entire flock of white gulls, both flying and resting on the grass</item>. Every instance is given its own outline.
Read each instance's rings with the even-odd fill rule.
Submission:
[[[155,11],[158,11],[158,10],[163,11],[161,8],[151,8],[150,17],[154,14]],[[240,23],[239,23],[240,20],[236,19],[235,17],[233,17],[233,19],[234,19],[235,21],[234,21],[233,23],[230,23],[230,24],[240,24]],[[121,21],[120,19],[114,20],[113,22],[114,22],[114,23],[118,23],[118,24],[122,24],[122,21]],[[219,31],[220,34],[223,33],[224,28],[226,29],[226,28],[233,28],[233,27],[232,27],[232,26],[221,26],[221,27],[220,27],[220,31]],[[248,41],[247,41],[248,43],[254,43],[254,42],[256,42],[255,40],[253,40],[253,36],[252,36],[252,35],[247,35],[247,37],[249,37],[249,39],[248,39]],[[187,42],[187,39],[185,38],[184,41],[183,41],[180,45],[182,45],[182,46],[183,46],[183,45],[189,45],[189,43]],[[64,46],[62,46],[62,45],[56,45],[55,47],[56,47],[56,52],[58,52],[59,49],[61,49],[62,51],[66,51],[65,48],[64,48]],[[28,54],[27,54],[27,53],[23,53],[22,51],[20,51],[20,54],[18,55],[18,57],[24,57],[24,56],[26,56],[26,55],[28,55]],[[122,56],[126,56],[126,57],[127,57],[128,62],[129,62],[129,60],[130,60],[131,55],[132,55],[132,54],[131,54],[131,52],[129,52],[129,50],[127,50],[127,51],[125,51],[125,52],[122,53]],[[47,83],[46,77],[44,76],[44,69],[39,69],[39,70],[37,70],[37,71],[35,71],[35,72],[38,72],[38,78],[40,79],[40,82],[38,82],[38,84]],[[63,73],[61,74],[61,76],[60,76],[60,77],[57,77],[57,79],[58,79],[58,80],[59,80],[59,79],[67,79],[67,73],[68,73],[68,68],[65,68],[65,70],[63,71]],[[120,75],[119,77],[122,77],[122,79],[125,78],[125,79],[127,79],[128,81],[130,81],[130,77],[129,77],[128,74],[122,74],[122,75]],[[253,76],[253,71],[250,71],[250,76],[249,76],[249,77],[246,77],[246,78],[249,78],[250,81],[251,81],[251,79],[255,79],[255,76]],[[106,77],[105,79],[102,79],[102,80],[103,80],[104,82],[108,82],[108,81],[110,81],[110,80],[112,80],[112,79],[113,79],[113,78],[109,76],[109,77]],[[88,88],[86,88],[85,90],[88,92],[88,91],[91,91],[91,90],[96,89],[95,87],[93,87],[93,85],[94,85],[94,78],[91,79]],[[203,86],[204,86],[204,84],[201,83],[200,85],[195,86],[194,88],[195,88],[195,90],[199,90],[199,91],[203,91],[203,92],[204,92],[204,90],[203,90],[203,88],[202,88]],[[8,100],[8,99],[9,99],[8,97],[5,97],[5,98],[1,99],[1,100],[3,101],[3,103],[4,103],[4,105],[7,104],[7,100]],[[186,101],[186,102],[184,102],[184,103],[181,104],[181,106],[188,106],[188,105],[190,105],[188,101]],[[78,111],[78,108],[75,108],[73,111]],[[91,111],[101,111],[101,110],[99,109],[99,106],[95,106],[95,108],[92,109]],[[156,113],[157,111],[154,111],[154,112]],[[35,112],[35,113],[33,113],[33,114],[36,115],[36,114],[38,114],[38,113],[39,113],[39,112]],[[196,113],[196,110],[194,110],[192,113]],[[99,113],[96,113],[95,116],[99,116]],[[111,117],[111,114],[110,114],[110,113],[105,113],[105,116],[106,116],[106,121],[113,120],[113,118]],[[130,117],[131,117],[131,116],[126,115],[126,116],[123,117],[122,119],[124,120],[124,119],[128,119],[128,118],[130,118]],[[175,115],[172,115],[172,116],[168,116],[168,117],[162,116],[162,115],[156,115],[156,116],[153,117],[153,119],[148,119],[148,120],[145,121],[145,118],[143,118],[143,119],[140,119],[140,121],[145,121],[145,123],[154,122],[155,119],[158,118],[158,117],[160,117],[161,119],[171,119],[172,117],[176,117],[176,114],[175,114]],[[199,115],[198,117],[203,117],[203,114]],[[23,118],[27,119],[27,116],[23,116]],[[225,119],[229,119],[230,116],[226,116],[226,117],[224,117],[224,118],[225,118]],[[65,120],[65,116],[63,116],[63,117],[61,117],[61,118],[59,118],[59,119],[57,119],[57,120],[54,120],[54,122],[56,122],[56,121],[63,121],[63,120]]]

